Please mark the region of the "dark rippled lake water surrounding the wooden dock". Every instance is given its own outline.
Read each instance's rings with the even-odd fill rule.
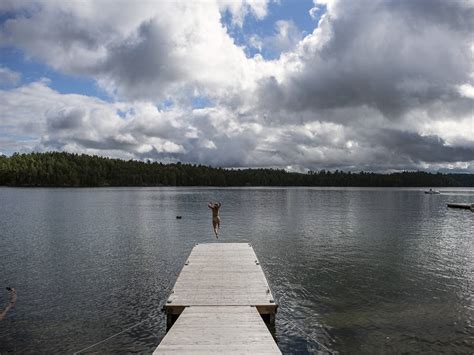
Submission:
[[[0,188],[0,353],[151,352],[195,243],[251,242],[284,353],[474,352],[474,189]],[[182,215],[181,220],[176,215]],[[150,318],[147,318],[150,317]],[[320,345],[322,344],[322,345]],[[318,350],[319,349],[319,350]]]

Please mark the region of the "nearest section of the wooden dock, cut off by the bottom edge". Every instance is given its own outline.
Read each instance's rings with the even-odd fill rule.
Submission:
[[[186,308],[153,354],[281,354],[255,307]]]

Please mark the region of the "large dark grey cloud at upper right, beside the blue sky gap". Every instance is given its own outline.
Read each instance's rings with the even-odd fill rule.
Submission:
[[[339,1],[298,70],[263,79],[268,108],[287,111],[368,105],[399,118],[434,101],[455,101],[472,71],[474,8],[462,1]],[[446,16],[445,16],[446,14]],[[324,42],[321,35],[327,36]]]

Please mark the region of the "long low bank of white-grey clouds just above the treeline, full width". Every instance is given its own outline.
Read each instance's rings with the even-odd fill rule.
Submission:
[[[456,165],[472,161],[474,156],[472,142],[450,145],[434,134],[421,136],[399,129],[353,128],[321,121],[242,122],[236,112],[223,108],[160,111],[144,102],[108,103],[83,95],[64,95],[44,82],[0,92],[0,104],[7,117],[2,122],[7,126],[7,136],[36,137],[30,144],[39,151],[67,150],[226,167],[291,165],[296,170],[321,166],[413,169],[441,163]],[[10,142],[2,147],[5,149],[15,146]]]

